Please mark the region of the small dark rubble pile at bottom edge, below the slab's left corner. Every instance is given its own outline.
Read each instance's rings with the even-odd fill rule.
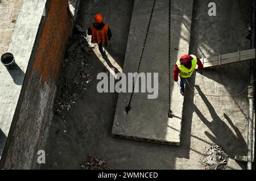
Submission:
[[[86,162],[81,162],[80,167],[82,170],[106,170],[108,166],[104,160],[101,160],[89,154]]]

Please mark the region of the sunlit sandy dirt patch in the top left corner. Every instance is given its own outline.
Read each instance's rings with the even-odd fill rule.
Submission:
[[[0,55],[9,47],[22,2],[23,0],[0,1]]]

